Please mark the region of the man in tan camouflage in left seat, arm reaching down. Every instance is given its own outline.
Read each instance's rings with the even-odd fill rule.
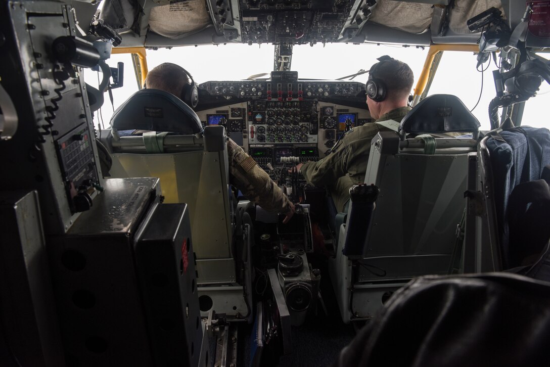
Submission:
[[[189,83],[185,73],[179,65],[163,63],[147,74],[145,83],[148,88],[164,90],[179,97],[185,85]],[[227,156],[229,182],[246,198],[259,204],[266,211],[283,213],[283,223],[287,223],[294,215],[295,209],[281,188],[231,139],[227,142]]]

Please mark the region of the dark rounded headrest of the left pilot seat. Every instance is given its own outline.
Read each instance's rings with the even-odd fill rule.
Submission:
[[[124,102],[111,118],[117,130],[151,130],[192,135],[201,132],[197,114],[178,97],[158,89],[142,89]]]

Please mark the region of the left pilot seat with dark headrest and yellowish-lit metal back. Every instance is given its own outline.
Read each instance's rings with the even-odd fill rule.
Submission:
[[[225,128],[203,129],[179,98],[143,89],[117,109],[101,141],[112,157],[111,177],[158,177],[164,202],[188,204],[202,315],[216,310],[251,320],[250,260],[240,260],[250,256],[235,255],[250,252],[243,238],[251,236],[235,235],[251,231],[237,210],[250,203],[237,204],[230,190]]]

